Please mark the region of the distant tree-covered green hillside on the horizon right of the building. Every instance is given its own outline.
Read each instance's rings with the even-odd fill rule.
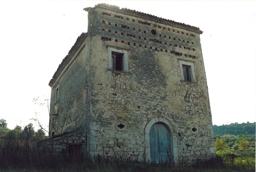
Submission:
[[[229,125],[213,125],[214,135],[223,135],[223,134],[255,134],[255,122],[254,123],[231,123]]]

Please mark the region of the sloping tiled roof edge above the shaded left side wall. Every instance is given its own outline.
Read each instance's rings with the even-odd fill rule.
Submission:
[[[60,75],[62,70],[65,68],[65,66],[69,63],[70,59],[75,55],[75,53],[78,51],[79,47],[82,45],[84,40],[87,38],[87,33],[82,33],[77,39],[74,44],[74,46],[69,50],[68,55],[62,60],[59,67],[57,68],[57,71],[52,76],[51,81],[49,82],[49,86],[51,87],[53,83],[56,81],[57,77]]]

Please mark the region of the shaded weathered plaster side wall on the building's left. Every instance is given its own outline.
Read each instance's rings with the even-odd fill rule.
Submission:
[[[88,126],[88,39],[65,67],[52,86],[50,133],[87,131]],[[55,102],[55,88],[59,85],[59,100]],[[57,115],[55,115],[57,114]]]

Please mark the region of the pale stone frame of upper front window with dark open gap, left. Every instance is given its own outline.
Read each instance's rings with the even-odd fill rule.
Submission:
[[[123,72],[128,72],[128,52],[124,49],[117,49],[117,48],[112,48],[112,47],[108,47],[108,69],[109,70],[114,70],[112,68],[112,53],[122,53],[123,54],[123,67],[122,67],[122,71]]]

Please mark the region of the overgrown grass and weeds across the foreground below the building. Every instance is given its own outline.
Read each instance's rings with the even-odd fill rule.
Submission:
[[[242,154],[242,153],[241,153]],[[248,156],[231,151],[217,151],[217,158],[199,162],[193,166],[172,166],[171,164],[146,164],[138,162],[113,162],[96,158],[92,162],[70,161],[37,151],[35,144],[22,140],[0,139],[1,172],[236,172],[255,171],[255,155]]]

